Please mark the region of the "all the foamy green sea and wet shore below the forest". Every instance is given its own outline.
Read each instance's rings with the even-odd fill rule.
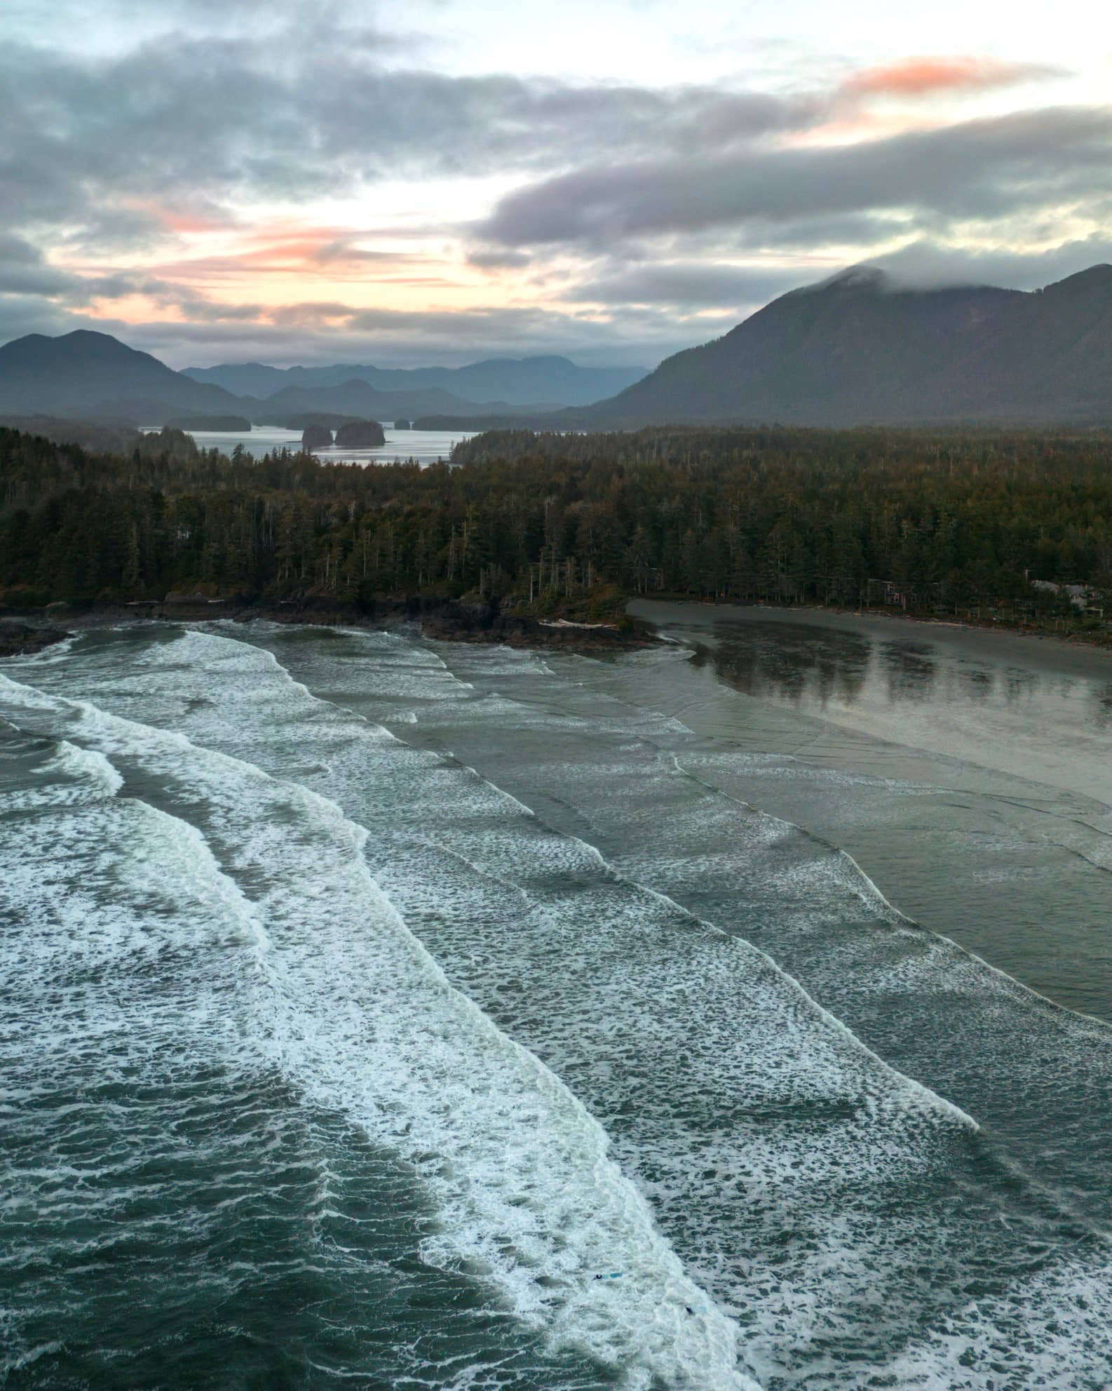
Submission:
[[[0,664],[0,1384],[1109,1385],[1108,658],[645,612]]]

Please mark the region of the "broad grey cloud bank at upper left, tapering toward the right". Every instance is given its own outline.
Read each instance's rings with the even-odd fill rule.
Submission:
[[[125,210],[133,234],[154,236],[218,225],[253,200],[296,207],[384,179],[721,147],[813,118],[809,100],[712,88],[403,70],[374,36],[349,39],[313,25],[174,33],[92,60],[6,45],[0,200],[22,224],[97,228],[106,207]]]

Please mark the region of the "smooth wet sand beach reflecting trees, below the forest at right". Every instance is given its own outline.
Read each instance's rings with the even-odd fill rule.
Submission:
[[[1112,803],[1112,654],[821,609],[635,601],[766,705]]]

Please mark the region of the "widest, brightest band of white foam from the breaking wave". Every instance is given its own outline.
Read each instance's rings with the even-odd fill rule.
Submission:
[[[188,858],[208,894],[236,908],[265,982],[256,1028],[270,1056],[316,1106],[341,1109],[417,1174],[438,1213],[427,1262],[499,1291],[553,1348],[584,1352],[623,1384],[752,1387],[735,1326],[662,1239],[602,1128],[449,985],[370,876],[363,828],[178,732],[7,679],[0,698],[8,718],[64,730],[122,768],[122,786],[142,775],[147,796],[157,786],[189,815],[178,864]],[[594,1280],[616,1267],[620,1281]],[[706,1312],[692,1316],[695,1305]]]

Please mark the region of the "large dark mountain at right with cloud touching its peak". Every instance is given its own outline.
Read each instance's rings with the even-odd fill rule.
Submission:
[[[1112,266],[1033,292],[905,289],[855,267],[783,295],[567,423],[684,421],[1112,421]]]

